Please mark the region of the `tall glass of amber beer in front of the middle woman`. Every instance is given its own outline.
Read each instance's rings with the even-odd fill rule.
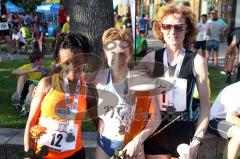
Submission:
[[[163,78],[150,79],[142,76],[138,77],[137,80],[142,82],[136,82],[136,78],[134,78],[134,84],[132,83],[130,86],[130,95],[134,96],[131,99],[135,101],[131,102],[133,103],[133,109],[130,112],[131,121],[129,129],[125,132],[123,147],[145,128],[149,119],[152,96],[157,95],[156,92],[160,93],[172,88],[172,84]],[[160,87],[159,84],[164,85],[164,88]]]

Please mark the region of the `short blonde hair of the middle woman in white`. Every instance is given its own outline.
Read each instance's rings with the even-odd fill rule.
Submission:
[[[133,37],[129,31],[118,28],[107,29],[102,36],[103,46],[114,40],[128,41],[131,44],[130,49],[133,50]]]

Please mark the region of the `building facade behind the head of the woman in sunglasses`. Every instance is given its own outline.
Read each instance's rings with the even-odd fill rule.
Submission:
[[[157,9],[162,4],[172,1],[189,2],[197,20],[200,20],[201,14],[210,15],[211,10],[217,9],[219,17],[229,23],[236,17],[237,12],[240,12],[240,0],[136,0],[136,16],[140,17],[144,13],[149,15],[150,19],[154,19]]]

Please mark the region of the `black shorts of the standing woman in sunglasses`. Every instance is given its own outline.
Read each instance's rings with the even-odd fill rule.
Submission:
[[[167,120],[162,121],[156,132],[169,122]],[[157,135],[149,137],[144,142],[144,151],[149,155],[171,154],[172,157],[179,157],[177,153],[178,145],[182,143],[190,144],[194,133],[195,123],[193,121],[175,121]]]

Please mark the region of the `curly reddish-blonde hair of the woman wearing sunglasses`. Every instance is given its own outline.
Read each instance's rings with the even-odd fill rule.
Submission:
[[[194,41],[198,34],[198,28],[196,26],[197,24],[196,17],[189,7],[178,5],[176,3],[166,4],[158,9],[153,23],[153,33],[155,37],[161,40],[162,42],[165,42],[163,38],[163,33],[161,32],[160,24],[162,23],[163,19],[166,16],[171,14],[179,14],[187,24],[186,29],[187,32],[185,34],[185,39],[183,41],[184,44],[188,44]]]

